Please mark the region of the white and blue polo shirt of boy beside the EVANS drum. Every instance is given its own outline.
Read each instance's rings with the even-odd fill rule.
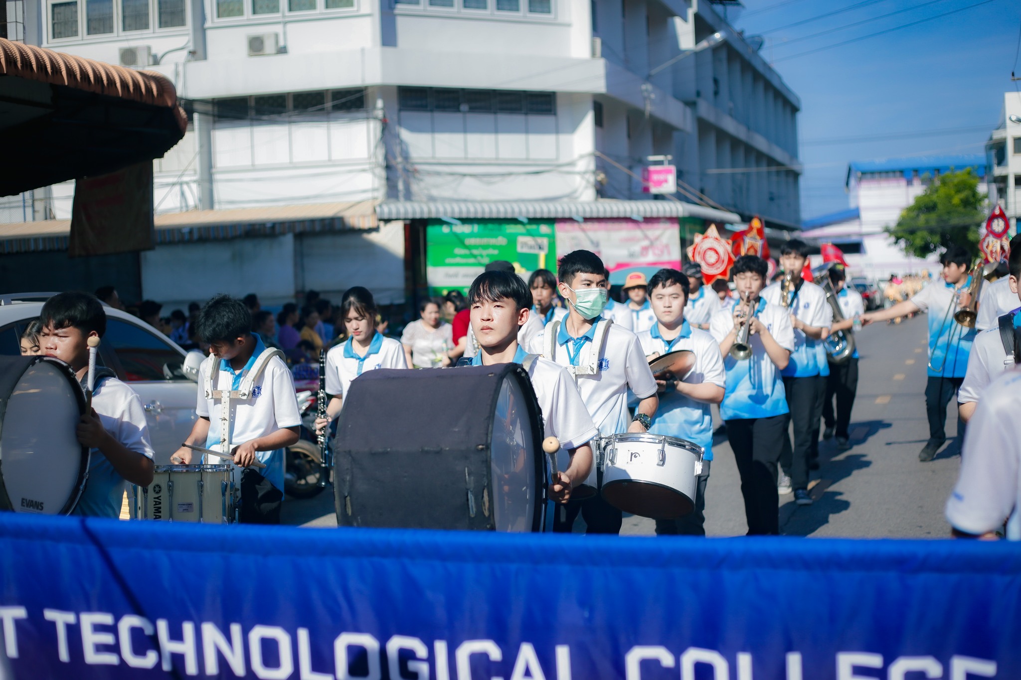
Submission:
[[[96,410],[103,429],[110,436],[129,451],[152,458],[145,409],[134,389],[116,378],[104,378],[92,395],[92,408]],[[93,449],[89,461],[89,478],[82,498],[75,506],[74,514],[116,519],[120,516],[126,484],[125,478],[113,469],[106,456],[98,449]]]

